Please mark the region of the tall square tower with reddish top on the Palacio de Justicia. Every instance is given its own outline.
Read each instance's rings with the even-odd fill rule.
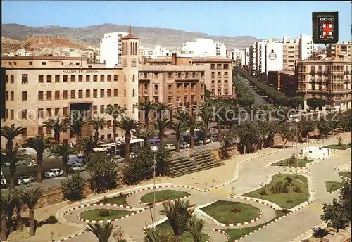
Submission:
[[[123,77],[122,82],[125,82],[125,96],[127,110],[132,110],[132,113],[127,113],[134,120],[138,120],[138,110],[134,108],[134,104],[138,103],[138,46],[139,37],[131,33],[121,37],[122,42],[122,67]],[[128,112],[128,111],[127,111]]]

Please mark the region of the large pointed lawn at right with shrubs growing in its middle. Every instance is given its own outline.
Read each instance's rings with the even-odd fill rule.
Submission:
[[[285,177],[291,177],[292,181],[291,184],[287,187],[288,192],[287,193],[272,193],[270,189],[272,186],[274,186],[278,181],[285,181]],[[298,183],[296,174],[275,174],[272,177],[272,181],[270,184],[256,190],[252,191],[250,193],[246,193],[243,196],[248,196],[252,198],[260,198],[263,200],[269,200],[272,203],[276,203],[282,208],[294,208],[294,206],[303,203],[304,201],[308,200],[309,198],[309,192],[308,192],[308,184],[307,184],[307,178],[298,175],[298,180],[300,181]],[[301,187],[301,192],[294,192],[293,189],[294,187],[299,184]],[[267,194],[262,195],[263,191],[265,191]],[[262,193],[262,194],[260,194]]]

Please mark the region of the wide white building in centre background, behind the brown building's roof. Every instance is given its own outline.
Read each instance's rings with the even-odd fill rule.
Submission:
[[[226,46],[213,39],[197,39],[195,42],[185,42],[182,46],[184,53],[190,53],[193,57],[226,56]]]

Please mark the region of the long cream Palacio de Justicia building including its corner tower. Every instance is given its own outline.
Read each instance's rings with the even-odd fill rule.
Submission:
[[[137,119],[134,104],[138,101],[139,40],[129,34],[121,41],[122,65],[114,68],[89,64],[87,58],[77,57],[2,57],[1,66],[6,68],[6,110],[1,125],[23,127],[22,136],[15,140],[23,144],[28,136],[53,134],[51,129],[44,127],[44,121],[50,117],[64,117],[73,110],[85,111],[88,116],[92,111],[101,115],[108,106],[120,105]],[[99,131],[105,139],[113,136],[110,118],[106,115],[107,126]],[[92,127],[83,129],[84,136],[92,134]],[[69,131],[61,135],[63,142],[72,139],[75,138]]]

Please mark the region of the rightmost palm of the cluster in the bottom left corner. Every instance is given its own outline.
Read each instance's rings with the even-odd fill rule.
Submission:
[[[23,200],[23,203],[27,206],[28,210],[30,210],[30,236],[35,234],[34,207],[41,196],[42,191],[39,190],[39,187],[36,189],[25,189],[20,193],[21,200]]]

